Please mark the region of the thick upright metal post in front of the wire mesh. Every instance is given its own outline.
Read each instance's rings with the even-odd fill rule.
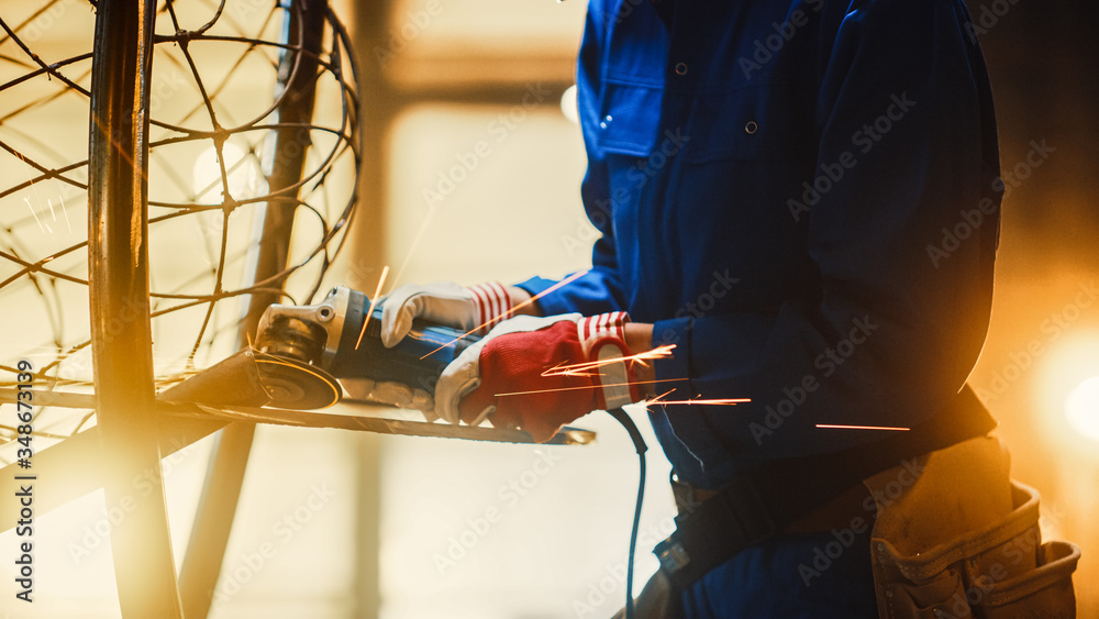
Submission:
[[[124,617],[181,618],[160,478],[148,301],[148,89],[155,0],[100,0],[91,68],[88,265],[107,505]],[[133,485],[137,476],[153,491]]]

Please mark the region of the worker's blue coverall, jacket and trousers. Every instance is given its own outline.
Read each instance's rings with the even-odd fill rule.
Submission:
[[[592,0],[577,86],[592,268],[546,314],[626,310],[674,343],[651,407],[679,476],[911,427],[984,343],[999,156],[962,0]],[[553,281],[521,287],[537,294]],[[664,389],[662,389],[664,390]],[[806,583],[823,535],[750,549],[684,594],[691,617],[873,617],[865,549]],[[865,541],[865,540],[864,540]]]

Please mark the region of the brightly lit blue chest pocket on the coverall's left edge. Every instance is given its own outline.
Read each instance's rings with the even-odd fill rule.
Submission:
[[[647,157],[656,143],[663,97],[659,87],[609,81],[598,115],[589,119],[596,146],[604,153]]]

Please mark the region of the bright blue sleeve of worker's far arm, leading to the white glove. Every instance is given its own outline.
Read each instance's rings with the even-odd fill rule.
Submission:
[[[600,60],[604,46],[601,44],[604,32],[601,21],[606,14],[598,10],[588,11],[580,44],[577,66],[577,103],[580,114],[597,114],[600,84]],[[591,253],[591,269],[574,281],[546,294],[539,299],[539,306],[545,316],[580,312],[584,316],[595,316],[625,309],[622,285],[617,276],[618,257],[614,248],[614,233],[610,218],[610,183],[602,154],[595,147],[588,135],[585,135],[585,146],[588,152],[588,170],[580,185],[580,197],[584,209],[592,225],[601,233]],[[532,295],[541,295],[547,288],[557,284],[556,280],[532,277],[518,284]]]

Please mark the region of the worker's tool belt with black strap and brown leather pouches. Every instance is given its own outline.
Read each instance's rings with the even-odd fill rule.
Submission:
[[[881,618],[1075,617],[1079,549],[1042,542],[1037,493],[1011,482],[976,397],[959,398],[965,414],[954,408],[953,419],[936,416],[899,440],[781,461],[720,490],[674,478],[677,531],[655,550],[669,592],[651,617],[675,617],[678,593],[741,550],[847,527],[867,506]]]

